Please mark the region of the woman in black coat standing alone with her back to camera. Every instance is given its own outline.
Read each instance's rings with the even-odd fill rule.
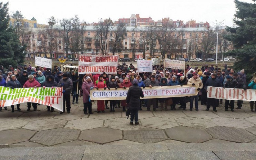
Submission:
[[[130,109],[131,118],[130,125],[133,125],[133,119],[135,120],[135,125],[139,125],[138,121],[138,110],[140,109],[140,97],[143,98],[143,92],[141,87],[138,86],[138,80],[133,79],[133,86],[129,87],[126,103]]]

